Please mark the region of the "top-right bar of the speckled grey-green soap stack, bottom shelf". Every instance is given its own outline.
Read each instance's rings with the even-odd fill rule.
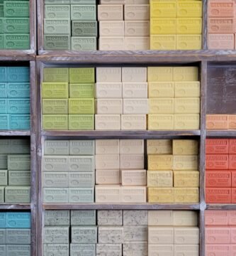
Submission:
[[[71,225],[96,225],[96,210],[71,210]]]

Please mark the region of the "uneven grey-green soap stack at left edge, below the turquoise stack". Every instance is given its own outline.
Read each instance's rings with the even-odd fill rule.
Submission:
[[[30,142],[0,140],[0,203],[30,203]]]

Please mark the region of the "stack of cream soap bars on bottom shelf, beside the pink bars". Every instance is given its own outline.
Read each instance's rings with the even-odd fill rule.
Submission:
[[[149,210],[148,255],[198,256],[197,212],[191,210]]]

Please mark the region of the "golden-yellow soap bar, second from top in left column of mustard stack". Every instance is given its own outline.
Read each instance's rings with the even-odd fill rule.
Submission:
[[[150,171],[172,170],[173,156],[171,154],[150,154],[147,156],[147,166]]]

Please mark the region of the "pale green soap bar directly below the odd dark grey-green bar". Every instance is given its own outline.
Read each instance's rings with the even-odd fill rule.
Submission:
[[[72,50],[96,50],[96,37],[73,37]]]

